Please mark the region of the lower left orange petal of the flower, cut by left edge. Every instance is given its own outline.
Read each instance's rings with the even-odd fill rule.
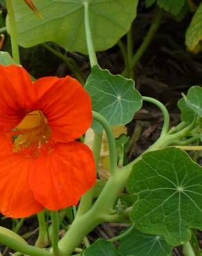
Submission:
[[[43,209],[28,183],[33,159],[8,153],[11,143],[0,136],[0,212],[12,218],[28,217]],[[4,154],[2,154],[4,152]]]

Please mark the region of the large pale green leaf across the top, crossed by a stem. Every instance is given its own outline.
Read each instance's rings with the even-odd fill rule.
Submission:
[[[86,0],[95,51],[111,48],[136,18],[138,0]],[[84,0],[35,0],[44,19],[38,19],[24,1],[13,1],[19,44],[60,44],[66,51],[88,53],[84,30]]]

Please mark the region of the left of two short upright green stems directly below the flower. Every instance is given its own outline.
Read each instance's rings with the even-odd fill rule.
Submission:
[[[44,248],[44,241],[46,237],[46,221],[45,221],[44,210],[42,210],[42,212],[39,212],[37,214],[37,218],[39,221],[39,236],[37,238],[37,241],[35,242],[35,246]]]

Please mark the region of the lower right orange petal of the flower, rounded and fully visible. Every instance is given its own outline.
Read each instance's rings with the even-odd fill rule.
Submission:
[[[95,164],[89,147],[78,142],[57,143],[40,156],[30,175],[35,199],[49,210],[76,205],[95,184]]]

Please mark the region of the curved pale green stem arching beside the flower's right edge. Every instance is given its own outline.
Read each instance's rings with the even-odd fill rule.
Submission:
[[[100,115],[100,113],[93,111],[93,118],[100,122],[100,124],[104,127],[104,130],[106,131],[109,144],[109,168],[111,175],[113,175],[116,173],[117,170],[116,142],[113,136],[113,131],[111,130],[109,122],[107,122],[106,118]]]

